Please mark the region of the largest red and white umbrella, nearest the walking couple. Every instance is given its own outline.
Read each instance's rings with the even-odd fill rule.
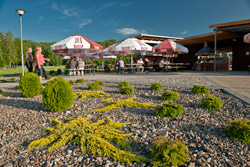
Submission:
[[[101,45],[78,34],[51,45],[51,50],[58,55],[76,57],[98,56],[102,49]]]

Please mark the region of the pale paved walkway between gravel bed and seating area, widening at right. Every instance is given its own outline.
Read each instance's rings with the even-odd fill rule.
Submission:
[[[235,72],[174,72],[149,74],[114,74],[98,73],[95,76],[62,76],[66,80],[103,80],[106,82],[120,82],[127,80],[131,84],[150,85],[160,82],[165,86],[193,87],[194,84],[207,85],[210,88],[223,89],[250,104],[250,75],[246,71]],[[12,77],[10,77],[12,78]],[[4,78],[1,78],[4,79]],[[7,78],[6,78],[7,79]],[[43,80],[46,83],[47,80]],[[0,87],[16,86],[18,83],[1,83]]]

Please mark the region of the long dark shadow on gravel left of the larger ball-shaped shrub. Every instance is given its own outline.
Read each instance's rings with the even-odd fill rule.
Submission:
[[[12,106],[21,109],[45,111],[43,103],[37,101],[21,100],[21,99],[0,99],[0,105]]]

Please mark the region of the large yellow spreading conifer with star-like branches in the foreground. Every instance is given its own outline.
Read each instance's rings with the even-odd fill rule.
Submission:
[[[91,123],[88,118],[82,117],[68,119],[65,123],[57,119],[52,122],[54,127],[46,128],[49,136],[31,142],[29,151],[49,146],[48,152],[52,152],[67,143],[73,143],[80,145],[82,153],[111,157],[119,163],[147,161],[145,157],[128,151],[130,142],[126,137],[132,134],[125,134],[119,128],[129,123],[117,123],[111,119]]]

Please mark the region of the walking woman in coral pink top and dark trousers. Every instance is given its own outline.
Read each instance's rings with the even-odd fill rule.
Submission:
[[[44,58],[42,54],[42,48],[40,46],[36,47],[36,54],[35,54],[35,68],[38,70],[38,76],[40,77],[40,82],[42,83],[42,75],[43,75],[43,63],[44,61],[50,61],[50,59]]]

